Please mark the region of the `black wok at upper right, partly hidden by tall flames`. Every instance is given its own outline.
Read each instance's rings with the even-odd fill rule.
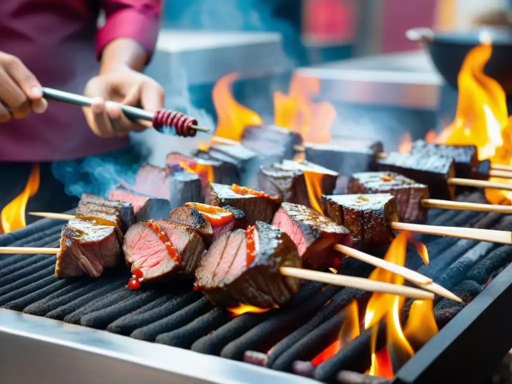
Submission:
[[[484,27],[467,32],[434,32],[430,28],[413,28],[406,32],[410,40],[423,41],[439,73],[457,88],[457,75],[466,54],[490,37],[493,54],[485,74],[495,78],[512,98],[512,31],[502,27]]]

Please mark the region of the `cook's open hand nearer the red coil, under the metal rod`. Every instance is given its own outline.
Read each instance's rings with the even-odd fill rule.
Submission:
[[[91,108],[83,108],[91,130],[100,137],[123,137],[146,126],[129,120],[121,109],[104,100],[138,106],[146,111],[162,109],[164,91],[155,80],[126,68],[100,74],[87,83],[84,95],[94,99]]]

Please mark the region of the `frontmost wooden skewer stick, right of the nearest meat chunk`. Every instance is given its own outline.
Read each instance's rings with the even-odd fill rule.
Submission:
[[[434,298],[434,294],[432,292],[427,292],[422,289],[406,287],[398,284],[382,283],[364,278],[355,278],[353,276],[346,276],[343,274],[318,272],[310,269],[293,267],[281,267],[279,268],[279,272],[292,278],[317,281],[341,287],[362,289],[369,292],[391,293],[399,296],[420,298],[421,300],[432,300]]]

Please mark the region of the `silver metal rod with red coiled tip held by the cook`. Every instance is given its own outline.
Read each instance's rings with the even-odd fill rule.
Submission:
[[[79,106],[91,106],[92,99],[89,97],[75,95],[69,92],[63,92],[51,88],[42,88],[42,93],[45,98],[68,104],[79,105]],[[144,111],[140,108],[135,108],[130,105],[118,104],[119,108],[123,111],[127,118],[131,120],[147,120],[151,121],[153,127],[163,132],[165,127],[172,127],[176,130],[178,136],[183,137],[194,137],[197,131],[210,133],[210,130],[197,126],[197,120],[191,118],[184,113],[171,111],[171,110],[160,110],[155,112]]]

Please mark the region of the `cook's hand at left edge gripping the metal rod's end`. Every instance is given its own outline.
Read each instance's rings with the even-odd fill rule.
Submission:
[[[47,106],[34,74],[20,59],[0,51],[0,122],[43,113]]]

